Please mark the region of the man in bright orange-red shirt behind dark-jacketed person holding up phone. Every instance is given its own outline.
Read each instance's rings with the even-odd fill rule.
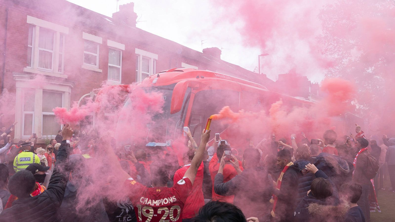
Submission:
[[[224,202],[228,202],[228,203],[233,203],[233,198],[234,198],[233,195],[221,196],[221,195],[216,194],[214,192],[215,175],[217,175],[218,169],[220,167],[220,162],[218,160],[220,158],[222,158],[222,155],[224,154],[225,149],[230,149],[230,146],[226,145],[226,144],[220,144],[217,148],[216,155],[214,155],[213,158],[211,158],[210,163],[209,163],[211,180],[213,181],[213,201],[224,201]],[[241,163],[241,161],[239,161],[239,167],[240,167],[240,171],[236,171],[235,167],[233,167],[231,164],[225,164],[224,171],[222,173],[224,175],[224,182],[228,182],[236,175],[241,174],[241,172],[243,171],[243,164]]]

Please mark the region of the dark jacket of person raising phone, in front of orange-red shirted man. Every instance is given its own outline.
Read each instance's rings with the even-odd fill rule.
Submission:
[[[246,217],[258,217],[259,221],[269,219],[272,181],[263,167],[245,169],[230,181],[224,183],[224,176],[218,173],[214,180],[214,192],[219,195],[235,195],[233,203],[243,211]]]

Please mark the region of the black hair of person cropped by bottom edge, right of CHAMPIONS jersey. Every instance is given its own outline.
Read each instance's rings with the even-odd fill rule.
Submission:
[[[243,212],[231,203],[210,201],[200,208],[193,222],[246,222]]]

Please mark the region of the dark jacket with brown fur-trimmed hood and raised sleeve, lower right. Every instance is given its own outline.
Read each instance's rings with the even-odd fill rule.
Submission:
[[[324,171],[319,170],[315,176],[327,179],[333,188],[333,194],[329,198],[316,199],[310,192],[297,205],[294,215],[296,222],[340,222],[342,216],[348,211],[350,206],[345,201],[339,201],[339,195],[335,184],[329,179]]]

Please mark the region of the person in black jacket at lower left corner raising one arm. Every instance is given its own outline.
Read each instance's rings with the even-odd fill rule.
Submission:
[[[64,190],[69,172],[64,170],[70,152],[69,141],[73,130],[66,124],[63,128],[64,140],[62,141],[56,166],[49,181],[47,190],[38,196],[30,196],[36,190],[36,180],[30,171],[22,170],[15,173],[8,182],[11,194],[18,197],[12,207],[5,209],[0,214],[0,222],[14,221],[62,221],[58,217],[58,209],[62,203]]]

